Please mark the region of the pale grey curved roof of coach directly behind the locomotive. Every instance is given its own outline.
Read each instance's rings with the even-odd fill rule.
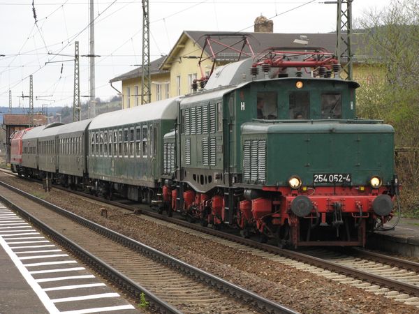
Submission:
[[[101,114],[92,119],[89,130],[137,124],[142,121],[175,120],[177,117],[177,101],[179,99],[180,97],[178,96],[138,107]]]

